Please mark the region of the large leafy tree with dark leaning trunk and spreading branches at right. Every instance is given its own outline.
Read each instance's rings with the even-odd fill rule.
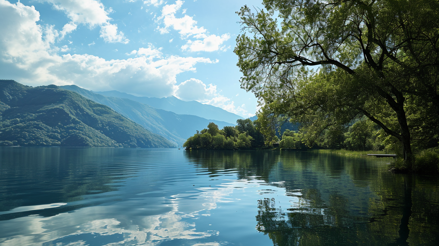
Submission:
[[[241,87],[263,110],[300,120],[310,136],[366,116],[402,143],[410,163],[411,132],[439,114],[439,2],[263,4],[266,11],[237,12],[245,31],[234,50]]]

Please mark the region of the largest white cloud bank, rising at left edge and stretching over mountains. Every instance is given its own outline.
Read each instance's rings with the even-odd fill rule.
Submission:
[[[126,93],[166,97],[174,92],[176,76],[196,71],[209,58],[162,54],[149,44],[130,54],[134,58],[106,60],[89,54],[58,55],[68,47],[56,47],[57,33],[51,26],[37,25],[34,7],[0,0],[0,73],[28,85],[76,84],[90,90],[120,90]]]

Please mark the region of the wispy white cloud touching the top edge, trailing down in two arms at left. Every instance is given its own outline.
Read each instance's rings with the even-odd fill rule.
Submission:
[[[108,14],[111,8],[105,10],[104,4],[97,0],[44,0],[53,4],[55,9],[63,11],[72,21],[64,25],[61,38],[66,33],[74,31],[78,24],[88,25],[90,28],[101,27],[101,38],[108,43],[128,43],[124,33],[118,31],[117,25],[111,24]]]

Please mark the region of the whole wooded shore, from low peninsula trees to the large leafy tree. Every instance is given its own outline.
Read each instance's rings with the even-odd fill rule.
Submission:
[[[259,148],[281,139],[293,148],[393,152],[396,170],[438,173],[438,1],[263,4],[237,12],[234,49],[258,119],[209,125],[185,146]],[[285,122],[299,130],[281,131]]]

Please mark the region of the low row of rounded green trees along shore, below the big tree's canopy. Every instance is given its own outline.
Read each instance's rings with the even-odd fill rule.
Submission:
[[[262,116],[260,112],[258,114]],[[313,139],[285,117],[277,117],[276,120],[277,124],[267,126],[267,122],[273,121],[265,117],[255,121],[238,119],[237,126],[226,126],[221,130],[211,122],[207,128],[189,137],[183,147],[202,150],[272,149],[273,144],[278,143],[279,148],[298,150],[313,148],[400,152],[399,143],[366,117],[327,130]]]

